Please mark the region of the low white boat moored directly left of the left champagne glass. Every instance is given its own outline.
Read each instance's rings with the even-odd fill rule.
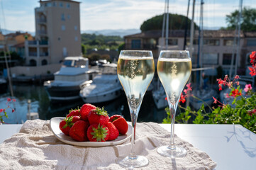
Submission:
[[[85,103],[102,103],[121,96],[117,74],[99,74],[91,84],[82,84],[80,96]]]

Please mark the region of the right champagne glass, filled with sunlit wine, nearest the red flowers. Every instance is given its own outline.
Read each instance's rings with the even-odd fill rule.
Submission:
[[[187,150],[174,145],[174,120],[180,95],[191,74],[188,51],[164,50],[157,62],[157,74],[164,86],[171,120],[171,139],[167,146],[158,147],[157,153],[164,157],[184,157]]]

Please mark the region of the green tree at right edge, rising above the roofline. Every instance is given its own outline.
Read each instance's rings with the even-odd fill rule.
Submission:
[[[230,15],[226,16],[226,23],[228,23],[226,30],[235,30],[238,23],[239,11],[235,10]],[[241,30],[256,31],[256,9],[244,7],[240,18]]]

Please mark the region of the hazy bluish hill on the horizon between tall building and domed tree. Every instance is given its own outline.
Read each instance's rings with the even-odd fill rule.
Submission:
[[[96,34],[96,35],[115,35],[115,36],[125,36],[131,35],[135,33],[140,33],[139,29],[120,29],[120,30],[81,30],[81,33],[88,33],[88,34]]]

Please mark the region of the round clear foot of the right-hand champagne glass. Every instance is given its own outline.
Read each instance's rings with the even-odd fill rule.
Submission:
[[[158,147],[157,153],[164,157],[185,157],[187,155],[187,150],[183,147],[175,147],[174,149],[169,148],[169,146]]]

